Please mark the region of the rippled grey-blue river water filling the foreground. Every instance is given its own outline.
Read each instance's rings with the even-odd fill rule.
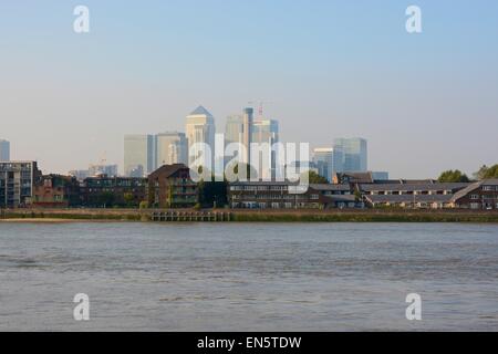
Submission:
[[[384,330],[498,331],[498,226],[0,223],[0,331]]]

